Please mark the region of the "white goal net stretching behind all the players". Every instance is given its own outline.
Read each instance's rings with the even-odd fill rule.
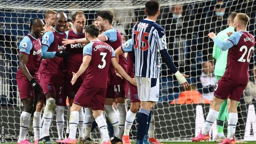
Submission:
[[[43,19],[49,9],[64,11],[69,18],[75,11],[82,10],[89,25],[96,18],[96,11],[111,10],[115,16],[114,27],[126,39],[130,39],[133,25],[145,18],[145,2],[146,0],[1,0],[0,124],[5,126],[5,140],[16,142],[18,139],[20,114],[23,110],[16,82],[18,45],[29,32],[32,18]],[[156,22],[166,30],[168,52],[175,65],[181,73],[190,75],[187,80],[192,85],[192,90],[183,91],[166,64],[162,64],[159,102],[154,111],[155,137],[166,141],[189,140],[203,128],[216,84],[213,76],[213,41],[207,34],[217,34],[227,28],[229,13],[236,11],[250,17],[247,30],[255,35],[256,1],[160,0],[160,4],[160,16]],[[249,66],[251,83],[238,106],[239,119],[235,136],[244,140],[256,140],[255,60],[253,54]],[[215,122],[210,131],[212,139],[217,133],[216,127]],[[135,121],[131,139],[136,138],[136,130]],[[96,128],[92,133],[95,139],[99,139],[97,132]],[[226,133],[225,122],[224,134]],[[32,139],[31,130],[29,134]],[[57,139],[55,117],[50,128],[50,137]]]

